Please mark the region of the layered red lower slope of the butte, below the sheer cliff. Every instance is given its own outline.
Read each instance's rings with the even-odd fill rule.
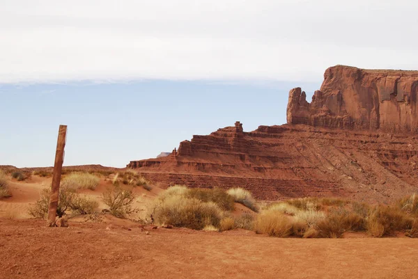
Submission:
[[[417,191],[413,134],[307,125],[233,127],[193,136],[168,157],[131,161],[148,180],[189,187],[243,187],[261,200],[342,196],[388,201]]]

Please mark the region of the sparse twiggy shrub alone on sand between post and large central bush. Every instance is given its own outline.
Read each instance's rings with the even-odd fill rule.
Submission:
[[[127,214],[135,212],[132,208],[135,196],[130,190],[115,186],[102,193],[102,200],[109,207],[110,214],[118,218],[124,218]]]

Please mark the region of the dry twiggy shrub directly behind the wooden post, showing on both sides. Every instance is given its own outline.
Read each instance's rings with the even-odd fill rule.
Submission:
[[[39,200],[37,200],[34,205],[29,207],[29,214],[35,218],[47,218],[50,195],[51,189],[43,189],[40,192]],[[74,196],[75,194],[69,191],[69,189],[61,187],[59,190],[58,207],[56,209],[57,216],[61,218],[64,214],[66,214],[66,212],[70,209],[70,205]]]

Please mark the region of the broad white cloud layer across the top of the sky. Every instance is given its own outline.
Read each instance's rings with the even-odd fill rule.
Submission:
[[[405,0],[3,0],[0,83],[418,70],[416,10]]]

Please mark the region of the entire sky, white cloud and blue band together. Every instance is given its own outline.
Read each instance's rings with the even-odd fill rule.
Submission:
[[[418,70],[418,2],[32,1],[0,5],[0,164],[123,167],[193,134],[286,122],[337,64]]]

